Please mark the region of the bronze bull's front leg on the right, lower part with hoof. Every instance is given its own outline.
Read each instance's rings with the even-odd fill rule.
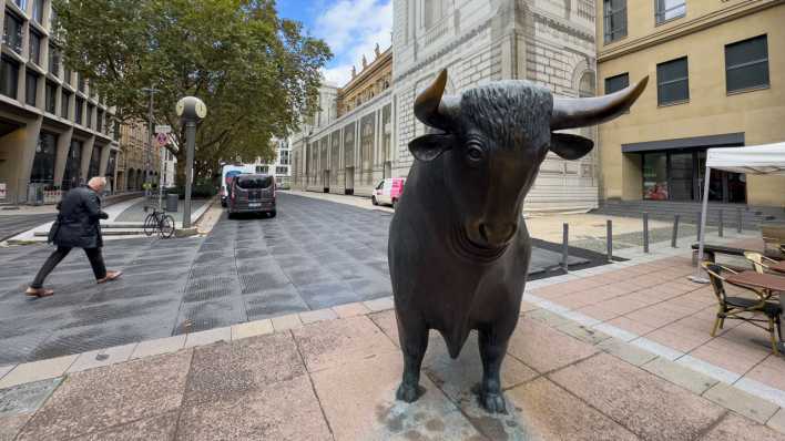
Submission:
[[[501,362],[507,353],[509,336],[499,336],[497,329],[479,330],[480,358],[482,359],[482,384],[480,404],[490,413],[507,413],[504,396],[501,392]]]

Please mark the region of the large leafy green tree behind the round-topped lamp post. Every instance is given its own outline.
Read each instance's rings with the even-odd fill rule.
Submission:
[[[202,99],[195,177],[220,161],[271,158],[272,136],[297,127],[316,104],[327,44],[300,23],[277,17],[274,0],[54,0],[65,63],[83,73],[116,107],[116,116],[172,125],[186,95]],[[177,153],[182,180],[185,148]],[[183,182],[183,181],[180,181]]]

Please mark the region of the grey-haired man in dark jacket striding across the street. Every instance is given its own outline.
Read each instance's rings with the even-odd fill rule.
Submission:
[[[35,279],[24,291],[26,295],[47,297],[54,294],[52,289],[43,288],[43,280],[68,256],[71,248],[84,249],[99,284],[120,277],[122,271],[106,271],[101,255],[103,239],[99,219],[106,219],[109,215],[101,211],[99,195],[105,185],[105,177],[93,177],[88,182],[88,185],[72,188],[63,196],[63,199],[58,204],[60,211],[58,221],[49,235],[49,240],[53,242],[58,249],[49,256],[38,271]]]

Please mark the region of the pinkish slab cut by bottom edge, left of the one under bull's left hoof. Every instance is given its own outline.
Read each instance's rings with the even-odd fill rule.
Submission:
[[[333,440],[310,380],[300,376],[225,400],[185,406],[179,440]]]

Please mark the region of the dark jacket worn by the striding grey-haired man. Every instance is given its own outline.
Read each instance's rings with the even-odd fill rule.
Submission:
[[[58,206],[60,227],[53,238],[54,245],[75,248],[103,246],[99,219],[106,219],[109,215],[101,211],[98,193],[88,186],[77,187],[65,193]]]

